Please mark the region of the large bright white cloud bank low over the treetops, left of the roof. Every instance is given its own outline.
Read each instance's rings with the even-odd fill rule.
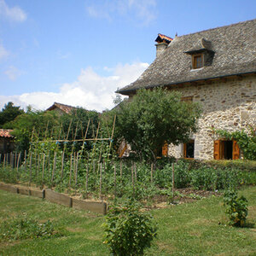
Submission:
[[[81,73],[71,84],[62,84],[58,92],[38,91],[24,93],[20,96],[0,96],[0,108],[7,102],[26,108],[46,109],[53,102],[86,109],[102,111],[113,108],[114,91],[135,81],[148,67],[148,63],[119,64],[108,68],[109,76],[101,76],[92,67],[81,70]]]

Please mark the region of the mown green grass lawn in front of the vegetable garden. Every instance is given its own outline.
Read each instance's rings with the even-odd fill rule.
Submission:
[[[222,197],[152,211],[158,237],[146,254],[256,255],[256,187],[243,188],[240,194],[249,202],[246,228],[226,225]],[[50,220],[62,236],[0,240],[0,255],[109,255],[102,243],[102,216],[0,190],[0,225],[25,217]]]

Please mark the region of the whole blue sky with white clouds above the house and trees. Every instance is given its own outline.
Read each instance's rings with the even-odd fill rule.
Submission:
[[[256,18],[255,0],[0,0],[0,109],[102,112],[171,38]]]

